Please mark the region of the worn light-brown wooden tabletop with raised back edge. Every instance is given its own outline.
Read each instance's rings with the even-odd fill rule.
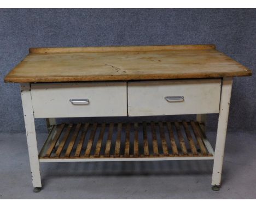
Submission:
[[[214,45],[30,48],[5,82],[73,82],[251,76]]]

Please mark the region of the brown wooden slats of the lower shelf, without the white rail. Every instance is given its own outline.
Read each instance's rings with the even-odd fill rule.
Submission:
[[[65,125],[65,124],[61,124],[61,125],[55,125],[54,126],[54,135],[51,137],[52,139],[48,140],[48,142],[45,143],[44,145],[44,149],[46,152],[46,154],[42,154],[42,156],[40,156],[40,158],[42,159],[54,159],[54,158],[84,158],[84,157],[90,157],[90,158],[114,158],[114,157],[126,157],[126,158],[130,158],[130,157],[188,157],[188,156],[193,156],[193,157],[202,157],[202,156],[212,156],[212,154],[208,153],[207,149],[211,148],[211,145],[207,143],[207,140],[203,140],[205,138],[203,138],[201,132],[200,132],[200,126],[196,121],[191,121],[191,122],[186,122],[186,121],[182,121],[182,122],[174,122],[174,123],[170,123],[170,122],[158,122],[158,123],[154,123],[151,122],[150,123],[150,129],[149,130],[152,133],[152,142],[150,141],[150,144],[153,145],[153,154],[149,154],[149,141],[148,141],[148,123],[143,122],[143,123],[134,123],[133,124],[133,128],[131,128],[131,124],[128,123],[125,125],[125,141],[124,144],[121,142],[123,140],[121,140],[122,137],[122,130],[123,130],[123,125],[122,123],[119,123],[117,125],[117,127],[115,127],[114,123],[110,123],[109,127],[108,127],[108,138],[106,141],[106,147],[104,145],[104,152],[102,152],[102,147],[103,147],[103,140],[104,140],[104,134],[106,131],[106,126],[108,124],[102,124],[100,126],[99,129],[99,134],[98,134],[98,138],[97,141],[94,142],[95,138],[95,134],[97,132],[97,128],[98,128],[98,124],[92,124],[90,125],[89,123],[85,123],[85,124],[77,124],[75,126],[73,135],[71,135],[72,129],[73,129],[73,124],[69,124],[69,125]],[[139,152],[139,125],[142,125],[142,131],[143,131],[143,153]],[[170,152],[170,147],[168,146],[168,142],[167,142],[167,138],[166,138],[166,127],[167,126],[167,131],[168,134],[170,136],[170,142],[171,142],[171,148],[172,148],[172,154]],[[173,126],[175,127],[175,129],[172,129]],[[189,125],[191,125],[191,129],[193,130],[193,132],[190,130]],[[182,127],[183,126],[183,127]],[[115,129],[117,128],[117,129]],[[159,129],[159,130],[158,130]],[[90,136],[89,139],[87,139],[86,134],[88,134],[90,130]],[[134,131],[134,134],[132,133],[132,138],[133,139],[133,154],[130,155],[130,150],[131,150],[131,130]],[[173,131],[176,132],[173,132]],[[113,133],[114,131],[117,133],[117,139],[114,138],[115,142],[114,144],[112,144],[112,139],[113,139]],[[161,139],[161,144],[158,144],[158,131],[159,131],[159,135],[160,135],[160,139]],[[184,131],[184,133],[183,133]],[[63,132],[63,133],[62,133]],[[177,148],[177,141],[176,141],[176,135],[174,137],[174,134],[177,133],[177,140],[179,140],[179,143],[181,145],[181,152],[178,151]],[[61,135],[63,134],[63,135]],[[79,136],[79,141],[78,140],[78,135]],[[200,150],[202,152],[202,154],[199,152],[197,152],[197,145],[195,144],[195,138],[193,138],[195,136],[197,143],[200,147]],[[69,140],[70,138],[70,142],[69,144],[67,144],[67,140]],[[185,144],[185,139],[188,139],[188,143],[189,144]],[[57,148],[56,154],[53,155],[53,148],[54,146],[56,146],[57,141],[60,141],[60,145]],[[86,140],[86,145],[85,144],[85,140]],[[77,142],[76,142],[77,141]],[[77,144],[77,146],[75,147],[75,144]],[[122,144],[121,144],[122,143]],[[187,142],[186,142],[187,143]],[[207,149],[206,149],[206,145],[205,143],[207,143]],[[94,145],[95,144],[95,145]],[[159,146],[161,147],[161,151],[163,153],[159,154],[160,150],[159,150]],[[186,146],[187,145],[187,146]],[[189,146],[188,146],[189,145]],[[67,146],[67,150],[65,150],[65,146]],[[93,155],[91,155],[92,152],[92,146],[95,146],[95,152]],[[110,150],[112,149],[112,147],[114,148],[114,154],[112,155],[110,153]],[[122,148],[122,149],[121,149]],[[123,150],[124,148],[124,152],[122,152],[121,150]],[[189,150],[187,149],[189,148]],[[102,149],[102,150],[101,150]],[[191,149],[191,150],[190,150]],[[65,150],[65,152],[63,152]],[[83,150],[85,151],[84,155],[82,155]],[[72,152],[75,151],[74,156],[71,156]],[[189,151],[189,153],[188,153]],[[101,152],[103,153],[103,155],[101,155]],[[183,154],[182,154],[183,152]],[[190,154],[191,152],[191,154]],[[213,151],[210,151],[213,152]],[[122,153],[122,155],[120,155]]]

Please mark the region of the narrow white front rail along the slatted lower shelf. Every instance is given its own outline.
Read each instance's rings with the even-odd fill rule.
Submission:
[[[168,160],[213,160],[210,157],[121,157],[121,158],[54,158],[54,159],[39,159],[40,162],[111,162],[111,161],[168,161]]]

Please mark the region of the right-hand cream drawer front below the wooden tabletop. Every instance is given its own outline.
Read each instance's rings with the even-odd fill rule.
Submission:
[[[219,113],[220,84],[221,79],[128,82],[128,114]]]

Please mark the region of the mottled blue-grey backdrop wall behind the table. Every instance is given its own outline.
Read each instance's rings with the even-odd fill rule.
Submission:
[[[0,131],[24,132],[19,84],[4,83],[3,78],[28,48],[171,44],[216,44],[255,71],[256,10],[1,9]],[[234,79],[229,130],[255,130],[255,89],[254,75]],[[216,129],[217,115],[208,118],[208,128]],[[45,131],[43,119],[36,126]]]

